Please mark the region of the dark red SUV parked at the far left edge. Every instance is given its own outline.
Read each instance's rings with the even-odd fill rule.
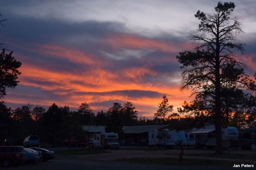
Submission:
[[[23,146],[0,146],[0,162],[4,167],[10,164],[22,164],[26,161]]]

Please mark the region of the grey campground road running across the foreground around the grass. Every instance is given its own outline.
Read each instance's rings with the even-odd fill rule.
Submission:
[[[50,148],[51,150],[51,148]],[[52,150],[59,150],[52,148]],[[187,150],[185,154],[193,151]],[[197,153],[213,153],[213,151],[203,150]],[[203,167],[197,166],[158,166],[154,164],[141,164],[141,163],[125,163],[112,161],[117,158],[131,158],[131,157],[170,157],[170,159],[177,159],[178,161],[179,150],[160,150],[160,151],[127,151],[127,150],[111,150],[111,153],[101,154],[86,154],[66,156],[56,153],[56,158],[48,162],[38,162],[33,164],[24,164],[21,166],[13,166],[4,169],[26,169],[26,170],[45,170],[45,169],[201,169]],[[184,156],[185,157],[185,156]],[[256,162],[254,164],[256,166]],[[3,167],[1,167],[2,169]],[[207,167],[210,169],[218,169],[218,167]],[[221,167],[221,169],[233,169],[233,167]],[[241,169],[241,168],[239,168]]]

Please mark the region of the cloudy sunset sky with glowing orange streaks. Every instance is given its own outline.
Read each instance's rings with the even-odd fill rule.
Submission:
[[[150,119],[163,95],[170,105],[191,101],[180,91],[176,55],[193,50],[186,36],[198,28],[194,14],[213,12],[218,1],[0,0],[0,42],[22,62],[20,83],[6,105],[28,103],[47,110],[56,103],[77,111],[82,102],[106,111],[130,101]],[[229,2],[229,1],[228,1]],[[256,1],[232,1],[243,24],[239,61],[256,72]]]

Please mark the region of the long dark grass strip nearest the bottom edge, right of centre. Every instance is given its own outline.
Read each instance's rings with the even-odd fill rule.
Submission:
[[[216,161],[207,159],[192,159],[185,158],[182,162],[179,162],[179,158],[121,158],[115,159],[114,161],[119,162],[130,162],[130,163],[145,163],[145,164],[159,164],[163,166],[233,166],[235,162],[229,161]]]

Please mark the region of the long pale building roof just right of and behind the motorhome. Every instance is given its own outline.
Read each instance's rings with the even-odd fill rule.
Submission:
[[[160,128],[166,127],[169,125],[152,125],[152,126],[124,126],[124,133],[144,133],[159,130]]]

